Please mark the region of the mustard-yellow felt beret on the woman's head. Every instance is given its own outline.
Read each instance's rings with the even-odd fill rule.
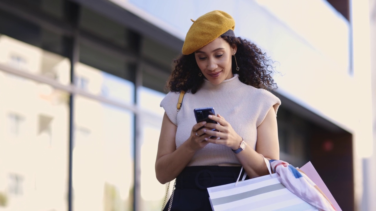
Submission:
[[[182,53],[188,55],[235,29],[235,21],[226,12],[215,10],[197,18],[185,36]],[[235,36],[235,35],[234,35]]]

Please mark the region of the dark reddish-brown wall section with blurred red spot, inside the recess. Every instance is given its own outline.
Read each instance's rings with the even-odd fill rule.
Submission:
[[[311,162],[343,211],[354,210],[352,135],[312,128]]]

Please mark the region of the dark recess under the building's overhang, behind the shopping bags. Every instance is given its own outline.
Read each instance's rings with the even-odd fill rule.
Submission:
[[[295,167],[311,161],[343,211],[354,210],[352,134],[290,99],[274,93],[280,159]]]

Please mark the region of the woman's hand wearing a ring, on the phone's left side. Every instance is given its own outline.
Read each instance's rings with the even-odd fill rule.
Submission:
[[[193,125],[191,136],[188,140],[189,140],[189,147],[194,152],[196,152],[199,149],[202,149],[204,146],[206,146],[209,143],[205,140],[205,138],[209,138],[210,135],[205,134],[203,130],[204,129],[210,130],[210,128],[203,127],[205,124],[206,122],[199,122],[196,125]]]

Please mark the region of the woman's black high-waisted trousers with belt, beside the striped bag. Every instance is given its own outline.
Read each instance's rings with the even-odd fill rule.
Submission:
[[[240,169],[241,167],[230,166],[185,167],[176,178],[171,211],[212,210],[206,188],[236,182]],[[164,211],[168,210],[170,200]]]

